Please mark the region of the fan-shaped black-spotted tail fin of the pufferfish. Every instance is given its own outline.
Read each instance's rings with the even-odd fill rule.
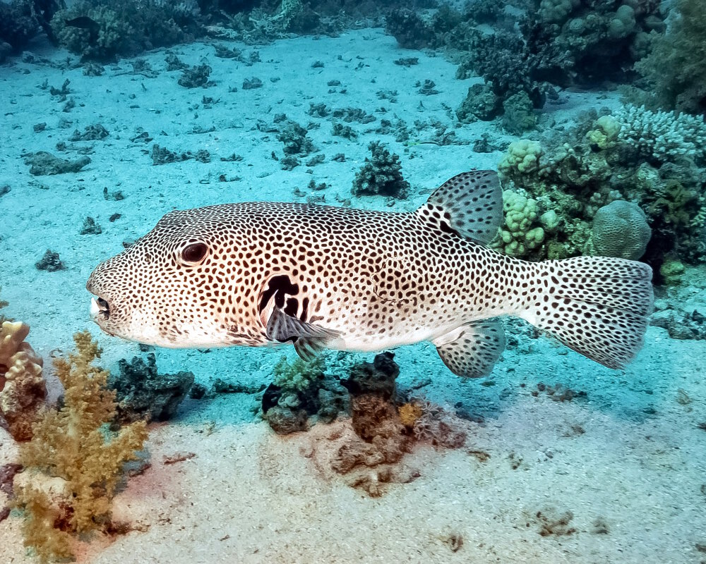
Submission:
[[[533,291],[518,315],[609,368],[622,368],[642,347],[652,312],[652,269],[609,257],[532,265]]]

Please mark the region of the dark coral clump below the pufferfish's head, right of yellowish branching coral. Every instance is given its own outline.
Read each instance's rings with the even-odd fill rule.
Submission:
[[[174,416],[193,384],[193,372],[158,374],[154,353],[147,362],[133,357],[118,361],[119,374],[111,374],[108,387],[115,391],[116,420],[120,423],[165,421]]]

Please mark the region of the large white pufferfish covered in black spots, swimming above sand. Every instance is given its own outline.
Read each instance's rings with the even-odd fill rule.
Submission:
[[[431,341],[460,376],[491,372],[498,317],[606,367],[640,350],[652,269],[609,257],[526,262],[486,247],[503,220],[494,171],[454,176],[414,212],[246,202],[175,210],[99,264],[91,314],[169,348],[294,343],[375,351]]]

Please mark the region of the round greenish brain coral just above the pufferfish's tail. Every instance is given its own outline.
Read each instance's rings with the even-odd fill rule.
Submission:
[[[637,260],[645,254],[651,235],[645,212],[634,202],[611,202],[593,219],[594,250],[604,257]]]

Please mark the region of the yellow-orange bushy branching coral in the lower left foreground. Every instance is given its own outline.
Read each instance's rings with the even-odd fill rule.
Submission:
[[[76,353],[54,361],[64,384],[64,405],[47,410],[34,437],[20,446],[25,471],[15,478],[17,505],[25,508],[25,544],[42,559],[68,556],[72,533],[106,530],[110,504],[123,475],[147,438],[145,422],[112,433],[115,392],[108,372],[95,366],[100,348],[90,333],[76,333]]]

